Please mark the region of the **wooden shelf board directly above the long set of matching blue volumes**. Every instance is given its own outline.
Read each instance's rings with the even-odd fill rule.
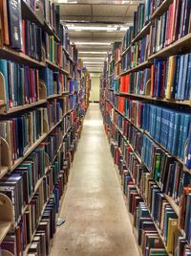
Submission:
[[[135,93],[127,93],[127,92],[117,92],[117,95],[122,95],[122,96],[128,96],[132,98],[138,98],[138,99],[144,99],[148,101],[154,101],[154,102],[159,102],[159,103],[164,103],[164,104],[174,104],[174,105],[188,105],[191,106],[191,101],[179,101],[179,100],[166,100],[166,99],[159,99],[156,97],[151,97],[151,96],[146,96],[146,95],[138,95]]]

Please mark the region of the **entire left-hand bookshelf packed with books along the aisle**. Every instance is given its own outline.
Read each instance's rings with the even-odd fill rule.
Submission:
[[[46,237],[44,249],[48,254],[89,101],[90,75],[83,63],[78,62],[67,28],[60,24],[59,8],[46,1],[50,8],[45,10],[39,6],[42,3],[35,2],[33,6],[33,1],[21,0],[17,9],[23,19],[19,23],[21,47],[11,45],[11,40],[5,43],[4,37],[0,46],[0,254],[3,255],[15,255],[5,249],[8,243],[17,255],[28,255],[34,239],[41,236]],[[5,13],[0,10],[0,14]],[[50,14],[53,20],[49,20]],[[8,26],[10,23],[8,20]],[[33,26],[32,35],[39,33],[33,36],[33,52],[29,50],[33,42],[30,35],[29,41],[26,40],[25,26]],[[7,31],[3,27],[1,33],[4,32]],[[7,39],[11,36],[9,31]],[[9,73],[10,67],[14,73]],[[80,92],[81,81],[85,84],[85,98]],[[22,136],[17,129],[18,120],[22,122],[20,128],[25,126]],[[9,190],[5,193],[3,188],[10,180],[12,193]],[[49,225],[51,229],[47,228]],[[23,226],[30,231],[26,233]]]

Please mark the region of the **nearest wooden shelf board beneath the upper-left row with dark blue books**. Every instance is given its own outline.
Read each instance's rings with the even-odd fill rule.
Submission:
[[[34,58],[31,58],[22,52],[17,52],[8,46],[0,47],[0,58],[6,58],[21,64],[28,64],[33,67],[45,67],[45,62],[35,60]]]

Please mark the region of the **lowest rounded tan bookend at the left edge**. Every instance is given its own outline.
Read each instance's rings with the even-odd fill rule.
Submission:
[[[13,211],[11,199],[0,193],[0,244],[11,229]]]

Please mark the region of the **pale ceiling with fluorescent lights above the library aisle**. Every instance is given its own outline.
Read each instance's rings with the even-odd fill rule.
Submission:
[[[111,43],[121,41],[142,0],[55,0],[79,58],[91,72],[102,70]]]

